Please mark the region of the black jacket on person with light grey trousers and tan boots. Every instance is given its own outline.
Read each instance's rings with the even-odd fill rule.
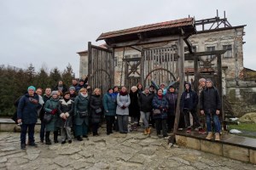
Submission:
[[[154,94],[142,93],[139,97],[140,111],[151,112],[153,109],[153,105],[152,105],[153,98],[154,98]]]

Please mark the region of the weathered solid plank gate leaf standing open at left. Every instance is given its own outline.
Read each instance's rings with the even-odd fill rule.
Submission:
[[[113,88],[113,52],[88,42],[88,74],[92,89],[101,88],[102,94]]]

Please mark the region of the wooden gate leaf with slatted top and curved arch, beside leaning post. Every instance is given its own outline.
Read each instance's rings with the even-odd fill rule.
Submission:
[[[178,74],[177,46],[149,48],[142,52],[142,82],[144,86],[162,82],[169,84]]]

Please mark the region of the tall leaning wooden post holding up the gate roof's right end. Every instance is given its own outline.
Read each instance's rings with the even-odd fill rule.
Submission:
[[[181,94],[183,93],[183,83],[184,83],[184,45],[183,45],[183,37],[179,37],[178,40],[178,62],[180,63],[179,67],[179,88],[178,88],[178,95],[177,95],[177,107],[176,107],[176,116],[175,116],[175,122],[174,122],[174,128],[173,128],[173,133],[176,135],[177,133],[177,128],[178,128],[178,123],[179,123],[179,117],[180,117],[180,99],[181,99]]]

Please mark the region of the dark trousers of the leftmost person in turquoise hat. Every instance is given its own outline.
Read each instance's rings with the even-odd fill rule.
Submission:
[[[34,133],[35,133],[35,123],[33,124],[22,124],[20,131],[20,144],[26,144],[26,130],[28,128],[28,141],[29,144],[35,143]]]

